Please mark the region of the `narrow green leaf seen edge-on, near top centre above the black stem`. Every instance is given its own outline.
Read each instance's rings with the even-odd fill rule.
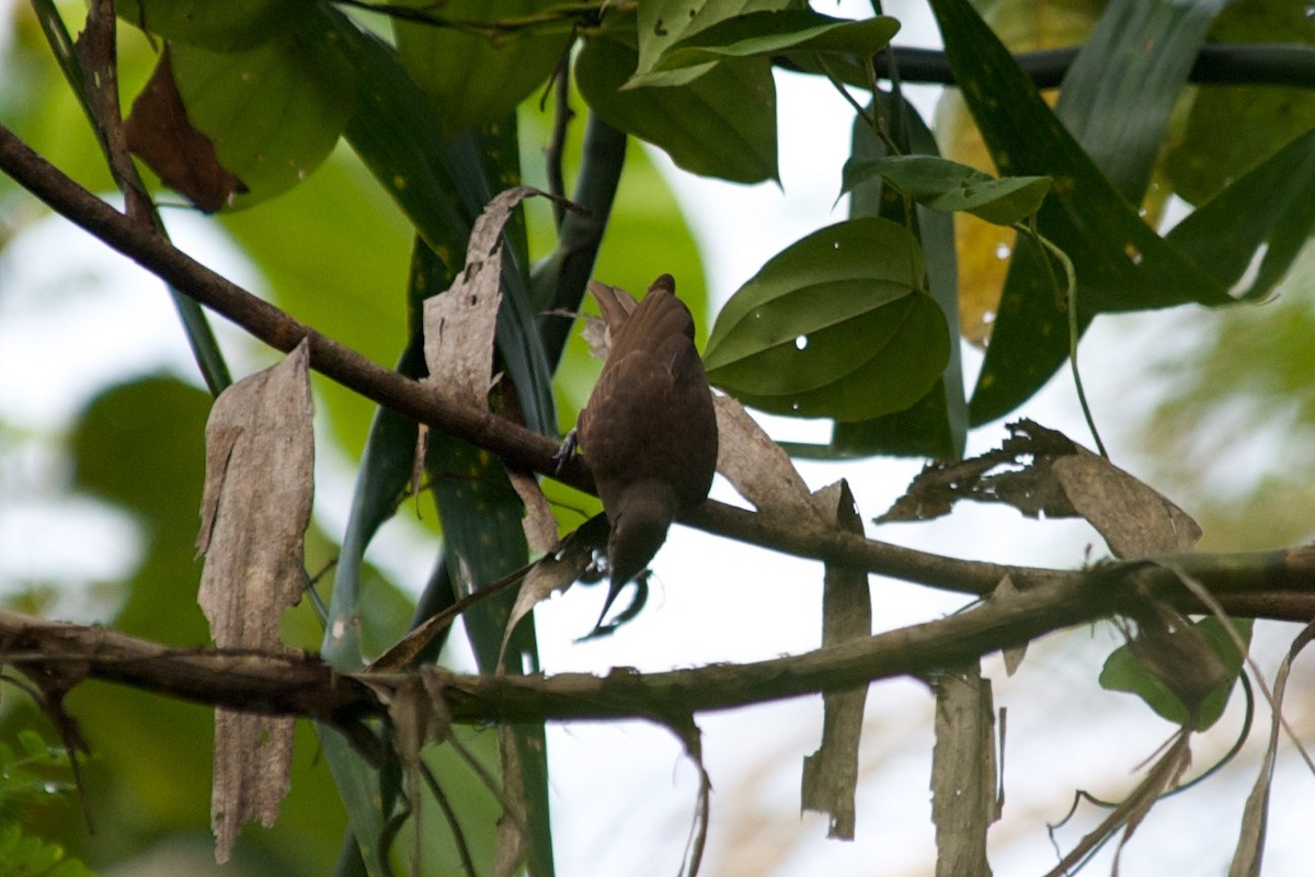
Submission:
[[[894,18],[852,21],[807,9],[755,12],[727,18],[661,53],[652,71],[696,67],[726,58],[771,58],[785,51],[872,57],[899,30]],[[636,75],[630,85],[650,84]]]

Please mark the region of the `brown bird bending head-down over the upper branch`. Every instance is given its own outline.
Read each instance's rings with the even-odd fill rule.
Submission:
[[[717,468],[717,415],[694,348],[694,318],[671,275],[644,300],[600,283],[611,346],[579,440],[611,525],[608,563],[617,592],[638,576],[667,539],[671,522],[707,498]]]

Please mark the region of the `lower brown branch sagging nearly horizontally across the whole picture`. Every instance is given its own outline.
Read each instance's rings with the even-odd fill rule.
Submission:
[[[1315,617],[1315,550],[1274,557],[1272,575],[1301,589],[1257,592],[1255,569],[1232,580],[1216,576],[1226,611],[1289,604],[1293,619]],[[694,713],[847,689],[899,676],[927,676],[944,667],[1022,646],[1045,634],[1126,611],[1134,601],[1169,600],[1185,611],[1203,607],[1170,565],[1098,567],[1027,590],[984,600],[935,621],[864,636],[803,655],[746,664],[714,664],[661,673],[614,669],[554,676],[466,676],[426,668],[459,723],[580,719],[671,721]],[[1239,565],[1241,572],[1244,567]],[[1187,571],[1185,571],[1187,572]],[[1187,575],[1195,576],[1199,569]],[[1301,600],[1298,600],[1301,598]],[[413,675],[343,675],[300,653],[178,650],[96,626],[51,622],[0,610],[0,663],[68,688],[84,678],[129,685],[214,706],[293,714],[352,726],[381,715],[379,686],[406,688]]]

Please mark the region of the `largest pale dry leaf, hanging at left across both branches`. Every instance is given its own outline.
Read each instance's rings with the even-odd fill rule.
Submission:
[[[283,610],[305,585],[302,539],[310,522],[314,434],[310,347],[226,389],[205,427],[205,496],[197,596],[221,648],[287,652]],[[288,792],[291,717],[214,713],[214,857],[229,859],[238,828],[274,824]]]

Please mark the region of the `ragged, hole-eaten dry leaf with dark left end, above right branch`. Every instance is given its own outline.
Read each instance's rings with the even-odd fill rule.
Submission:
[[[1182,509],[1063,433],[1032,421],[1009,429],[995,451],[927,464],[877,522],[926,521],[948,514],[960,500],[977,500],[1028,517],[1085,518],[1119,557],[1180,554],[1201,538]]]

